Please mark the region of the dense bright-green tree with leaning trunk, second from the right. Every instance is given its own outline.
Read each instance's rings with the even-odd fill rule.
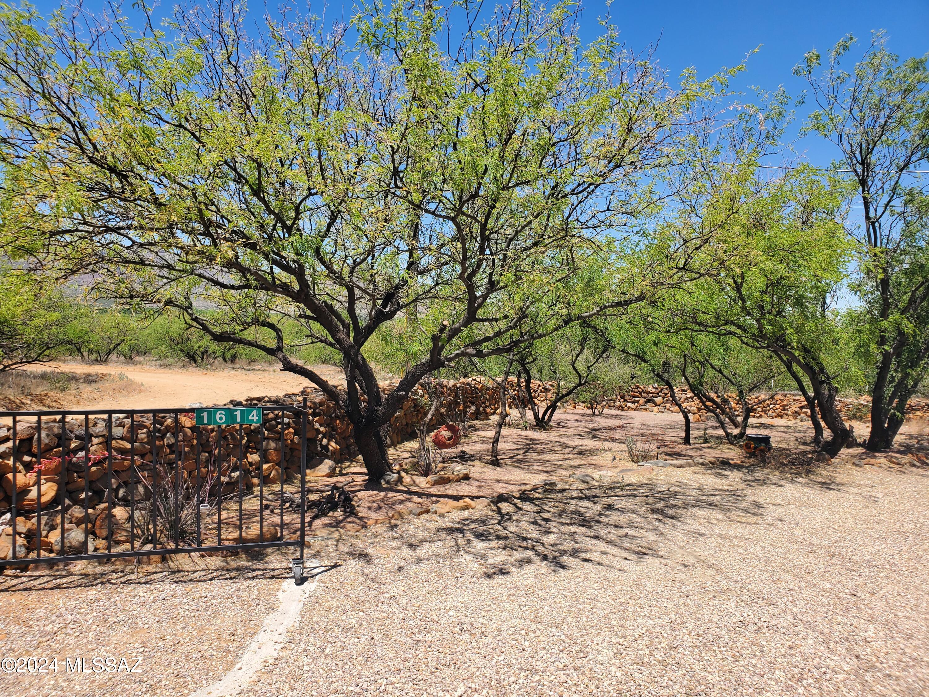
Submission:
[[[835,358],[834,300],[850,255],[844,190],[801,169],[752,176],[711,199],[699,218],[684,214],[680,223],[718,225],[703,251],[706,263],[726,264],[666,307],[698,332],[773,354],[807,397],[817,447],[834,457],[853,436],[836,403],[845,366]]]

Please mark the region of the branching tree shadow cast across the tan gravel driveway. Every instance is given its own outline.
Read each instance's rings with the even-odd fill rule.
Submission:
[[[524,494],[483,515],[440,523],[427,536],[411,530],[412,549],[444,536],[461,554],[478,559],[485,575],[543,564],[552,571],[575,562],[619,568],[620,559],[665,558],[663,536],[710,534],[686,519],[714,512],[723,518],[760,519],[765,506],[739,491],[702,488],[674,491],[666,485],[609,484]],[[424,531],[425,532],[425,531]]]

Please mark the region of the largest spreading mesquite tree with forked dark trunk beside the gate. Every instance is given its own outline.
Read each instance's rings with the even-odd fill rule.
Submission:
[[[583,46],[570,7],[459,7],[457,42],[430,4],[331,33],[246,32],[225,2],[138,32],[4,7],[5,246],[276,358],[339,404],[379,480],[422,377],[648,293],[622,282],[622,232],[713,86],[669,88],[613,28]],[[594,258],[597,293],[566,296]],[[398,318],[426,347],[385,394],[363,349]],[[294,359],[285,321],[342,356],[344,386]]]

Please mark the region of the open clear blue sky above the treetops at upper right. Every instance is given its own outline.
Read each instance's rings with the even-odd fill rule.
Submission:
[[[792,96],[806,86],[792,76],[793,66],[811,48],[825,54],[846,33],[857,36],[863,47],[872,30],[883,29],[888,48],[901,58],[929,52],[929,0],[614,0],[609,7],[596,0],[585,7],[584,31],[590,37],[600,29],[596,18],[609,12],[631,48],[658,41],[657,57],[674,74],[693,66],[709,75],[736,65],[761,45],[740,85],[765,90],[783,85]],[[806,111],[808,106],[801,107],[797,116],[802,119]],[[830,164],[835,156],[819,138],[805,138],[797,146],[812,164]]]

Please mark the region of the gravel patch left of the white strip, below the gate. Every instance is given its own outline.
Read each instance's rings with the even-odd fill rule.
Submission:
[[[256,568],[247,562],[185,558],[170,571],[94,562],[7,572],[0,578],[0,658],[57,658],[58,669],[11,674],[3,665],[0,685],[5,694],[30,697],[188,694],[236,664],[277,607],[289,560],[255,559]],[[67,669],[66,659],[77,657],[85,659],[83,673]],[[115,658],[119,670],[108,673],[104,663],[95,672],[94,658]]]

